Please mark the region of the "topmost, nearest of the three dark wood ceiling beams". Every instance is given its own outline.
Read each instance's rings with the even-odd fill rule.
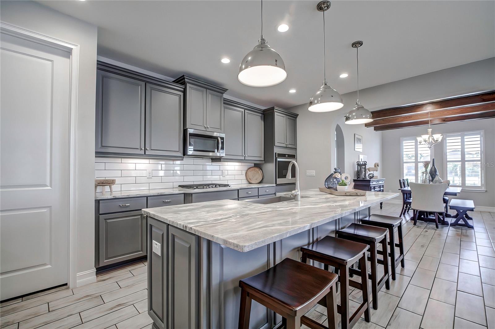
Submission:
[[[410,115],[416,113],[428,113],[446,108],[473,105],[478,103],[494,102],[495,90],[483,91],[474,94],[467,94],[435,101],[421,102],[404,106],[397,106],[378,111],[373,111],[373,119],[383,119],[389,117]]]

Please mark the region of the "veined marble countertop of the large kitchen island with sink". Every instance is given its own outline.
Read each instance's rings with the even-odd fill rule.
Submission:
[[[362,197],[339,197],[315,189],[301,191],[299,202],[291,200],[262,205],[249,201],[221,200],[148,208],[143,209],[143,212],[202,238],[246,252],[398,195],[367,192]]]

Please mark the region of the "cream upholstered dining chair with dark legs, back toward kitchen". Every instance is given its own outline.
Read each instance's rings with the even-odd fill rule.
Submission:
[[[420,184],[409,183],[411,188],[411,208],[414,211],[414,225],[416,225],[420,212],[435,213],[435,226],[438,228],[439,215],[445,221],[444,193],[447,189],[446,183]]]

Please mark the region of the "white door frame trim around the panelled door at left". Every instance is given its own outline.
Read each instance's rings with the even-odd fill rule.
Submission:
[[[78,95],[78,75],[79,75],[79,45],[60,40],[45,34],[25,29],[6,22],[0,22],[2,33],[21,38],[28,41],[37,42],[52,48],[61,49],[70,53],[70,77],[69,77],[69,204],[68,204],[68,232],[69,237],[69,259],[68,259],[68,285],[69,288],[77,286],[76,269],[76,174],[77,174],[77,95]]]

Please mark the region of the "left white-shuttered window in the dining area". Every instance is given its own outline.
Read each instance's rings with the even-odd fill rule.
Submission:
[[[430,161],[430,149],[425,145],[419,145],[416,137],[400,139],[400,167],[401,177],[409,179],[409,182],[419,182],[424,171],[424,161]]]

